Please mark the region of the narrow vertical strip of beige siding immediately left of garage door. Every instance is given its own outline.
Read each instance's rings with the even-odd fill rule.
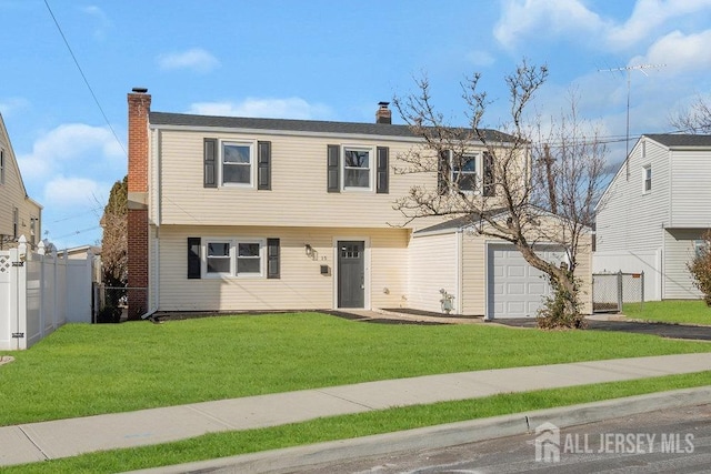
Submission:
[[[462,235],[462,313],[483,316],[487,301],[485,239],[464,231]]]

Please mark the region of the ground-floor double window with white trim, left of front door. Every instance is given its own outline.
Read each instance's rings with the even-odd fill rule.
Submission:
[[[264,276],[264,239],[204,239],[203,242],[204,278]]]

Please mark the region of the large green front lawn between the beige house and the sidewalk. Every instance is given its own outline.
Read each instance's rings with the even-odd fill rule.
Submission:
[[[68,324],[0,366],[0,425],[427,374],[710,352],[643,334],[319,313]]]

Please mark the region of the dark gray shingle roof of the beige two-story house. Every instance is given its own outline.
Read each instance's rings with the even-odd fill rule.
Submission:
[[[321,120],[254,119],[244,117],[194,115],[188,113],[150,112],[154,125],[224,128],[250,130],[281,130],[311,133],[367,134],[380,137],[418,138],[408,125],[388,123],[329,122]],[[512,141],[512,137],[485,130],[491,141]]]

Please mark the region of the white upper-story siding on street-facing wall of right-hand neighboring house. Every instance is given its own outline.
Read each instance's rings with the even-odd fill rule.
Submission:
[[[673,151],[670,228],[711,228],[711,150]]]

